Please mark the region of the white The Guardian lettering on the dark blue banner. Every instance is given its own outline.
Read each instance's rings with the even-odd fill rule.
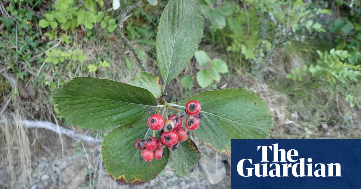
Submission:
[[[341,164],[312,161],[303,157],[296,149],[278,149],[278,143],[272,145],[258,145],[255,151],[262,153],[262,160],[255,162],[244,158],[237,163],[237,172],[242,177],[342,177]],[[269,153],[273,158],[269,159]],[[301,156],[301,158],[299,157]],[[325,157],[327,161],[327,157]]]

